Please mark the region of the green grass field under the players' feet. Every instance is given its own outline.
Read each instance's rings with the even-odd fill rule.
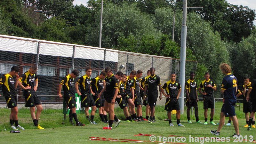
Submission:
[[[243,104],[242,104],[243,105]],[[222,103],[217,102],[215,106],[215,116],[214,122],[218,123],[220,118],[220,109]],[[201,122],[204,122],[204,113],[203,113],[203,103],[198,102],[199,107],[199,119]],[[185,107],[186,108],[186,107]],[[143,108],[145,109],[145,107]],[[186,112],[186,109],[184,109]],[[210,109],[209,109],[210,111]],[[124,119],[123,112],[120,108],[115,109],[116,115],[119,119]],[[210,133],[210,130],[214,130],[218,127],[218,125],[214,126],[211,124],[203,125],[203,124],[195,124],[195,115],[191,115],[191,119],[193,124],[187,123],[187,116],[186,114],[181,115],[181,124],[185,125],[185,127],[178,127],[176,125],[176,117],[172,115],[172,122],[174,127],[170,127],[168,121],[164,121],[167,118],[166,111],[164,110],[163,106],[156,107],[156,123],[149,124],[145,122],[135,122],[135,123],[128,123],[122,121],[117,128],[113,130],[102,130],[103,126],[107,126],[100,122],[99,115],[95,115],[95,121],[98,122],[97,125],[91,125],[87,120],[85,120],[84,114],[78,114],[78,119],[85,123],[85,126],[78,127],[78,126],[71,126],[69,124],[68,119],[63,122],[63,114],[62,110],[52,110],[52,109],[45,109],[42,112],[41,120],[39,124],[44,127],[44,130],[38,130],[36,127],[33,126],[33,122],[30,117],[30,112],[28,109],[20,109],[19,110],[19,123],[23,126],[26,130],[21,131],[20,133],[10,133],[11,130],[9,124],[9,109],[0,109],[0,140],[1,143],[124,143],[118,141],[109,141],[109,140],[90,140],[89,137],[100,137],[100,138],[107,138],[107,139],[123,139],[123,141],[129,142],[138,142],[138,143],[162,143],[161,142],[150,142],[149,136],[134,136],[138,135],[139,133],[142,134],[151,134],[156,136],[156,141],[159,141],[160,136],[163,137],[174,137],[175,140],[177,138],[184,137],[186,141],[177,142],[172,141],[173,143],[200,143],[192,142],[192,138],[190,137],[217,137]],[[256,129],[252,129],[251,131],[247,131],[246,128],[243,126],[245,125],[243,107],[241,106],[240,111],[239,108],[236,108],[236,114],[239,121],[239,130],[240,134],[243,137],[247,137],[247,143],[250,139],[249,136],[252,135],[253,139],[256,140]],[[210,113],[208,112],[208,122],[210,121],[209,118]],[[145,113],[143,112],[143,116],[145,117]],[[228,118],[226,118],[227,123]],[[7,131],[4,131],[6,129]],[[229,137],[235,132],[233,124],[231,126],[223,126],[220,136],[219,137]],[[180,136],[180,137],[177,137]],[[128,139],[128,140],[127,140]],[[138,140],[138,141],[132,141]],[[173,140],[173,139],[172,139]],[[178,139],[180,140],[180,139]],[[194,138],[195,140],[199,140]],[[234,142],[235,138],[230,137],[230,142],[228,143],[237,143]],[[254,141],[256,142],[256,141]],[[210,143],[210,142],[203,142],[201,139],[201,143]],[[214,142],[216,143],[216,142]],[[223,143],[223,142],[219,142]],[[227,142],[224,142],[227,143]],[[245,138],[243,140],[245,143]]]

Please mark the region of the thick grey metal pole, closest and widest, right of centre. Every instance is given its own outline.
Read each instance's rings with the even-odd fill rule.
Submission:
[[[186,65],[186,41],[187,41],[187,0],[183,0],[183,20],[181,26],[181,44],[180,44],[180,97],[184,97],[185,90],[185,65]],[[179,100],[180,112],[184,113],[184,99]]]

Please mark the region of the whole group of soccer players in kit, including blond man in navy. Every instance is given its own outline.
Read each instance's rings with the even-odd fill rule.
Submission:
[[[223,78],[221,85],[221,92],[224,93],[223,98],[223,107],[220,114],[220,123],[218,129],[211,131],[215,135],[220,135],[220,129],[224,124],[225,116],[230,116],[233,120],[233,124],[236,130],[236,135],[239,135],[238,130],[238,121],[235,114],[235,103],[236,97],[240,96],[242,93],[244,95],[244,113],[246,118],[246,125],[248,130],[251,129],[251,126],[255,128],[254,124],[254,113],[256,111],[255,103],[253,102],[256,94],[255,84],[256,80],[250,82],[249,77],[244,77],[244,89],[242,93],[237,89],[237,79],[233,76],[231,68],[228,64],[222,64],[220,66],[223,74],[226,75]],[[38,79],[36,75],[37,67],[35,65],[31,66],[27,72],[25,72],[22,77],[19,77],[18,72],[20,69],[17,66],[12,67],[11,72],[5,74],[0,79],[0,84],[2,84],[2,89],[4,97],[7,102],[8,108],[11,108],[10,114],[10,124],[14,130],[17,128],[24,130],[18,124],[18,108],[17,108],[17,97],[16,97],[16,88],[19,85],[25,96],[25,106],[30,108],[31,117],[34,122],[34,125],[38,129],[44,129],[38,124],[40,119],[40,114],[43,110],[40,99],[36,95]],[[158,89],[160,91],[159,100],[162,99],[162,93],[166,97],[164,109],[167,111],[168,121],[170,126],[172,124],[172,110],[176,110],[176,119],[177,125],[183,126],[180,124],[180,105],[179,105],[179,96],[181,92],[181,86],[176,82],[176,74],[171,74],[171,79],[161,85],[161,79],[155,74],[155,68],[150,68],[147,71],[147,77],[142,76],[142,71],[132,70],[129,75],[123,74],[121,71],[118,71],[115,75],[112,73],[110,67],[106,67],[103,71],[100,72],[100,75],[91,78],[92,68],[86,67],[85,75],[81,76],[77,82],[74,82],[74,79],[79,76],[78,70],[73,70],[70,74],[63,77],[59,84],[59,97],[62,97],[61,89],[64,90],[64,101],[67,103],[70,112],[69,120],[70,123],[77,126],[84,126],[79,122],[76,115],[76,98],[75,90],[79,96],[81,96],[81,107],[85,108],[86,119],[91,124],[97,124],[94,121],[95,111],[99,109],[99,115],[103,123],[108,123],[108,127],[103,129],[112,129],[112,124],[115,121],[115,127],[121,122],[120,119],[114,113],[114,104],[117,102],[121,109],[124,111],[125,120],[127,122],[135,121],[144,121],[147,120],[149,123],[155,122],[155,106],[158,98]],[[16,76],[16,82],[13,80],[13,77]],[[194,80],[195,73],[190,72],[189,79],[185,83],[186,90],[186,106],[187,108],[187,118],[188,123],[192,123],[190,120],[190,109],[191,107],[195,108],[196,123],[198,124],[208,124],[208,108],[211,109],[210,114],[210,123],[216,125],[213,122],[214,116],[214,97],[213,91],[216,91],[216,84],[212,79],[210,79],[210,74],[206,72],[204,74],[205,80],[200,83],[198,91],[203,95],[204,103],[204,117],[205,122],[202,123],[199,121],[198,117],[198,96],[197,96],[197,83]],[[75,83],[75,84],[74,84]],[[79,91],[80,86],[80,91]],[[254,86],[254,87],[253,87]],[[165,89],[165,92],[164,92]],[[251,95],[251,96],[249,96]],[[250,97],[250,100],[249,100]],[[254,100],[255,101],[255,100]],[[142,105],[146,106],[146,119],[142,116]],[[35,107],[37,107],[37,112],[35,115]],[[92,108],[91,116],[89,116],[89,107]],[[137,107],[137,111],[135,110]],[[129,108],[129,109],[128,109]],[[136,114],[137,112],[137,114]],[[250,118],[249,114],[251,113]],[[108,113],[108,115],[107,115]],[[73,123],[73,118],[76,121],[76,124]],[[109,118],[109,120],[108,120]],[[231,119],[229,119],[228,124],[230,125]],[[14,123],[16,127],[14,126]]]

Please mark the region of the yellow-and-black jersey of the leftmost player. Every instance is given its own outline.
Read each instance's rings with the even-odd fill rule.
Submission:
[[[4,96],[16,96],[15,81],[10,74],[5,74],[0,78]]]

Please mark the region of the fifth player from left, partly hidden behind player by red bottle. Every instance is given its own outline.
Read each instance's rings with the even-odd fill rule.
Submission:
[[[93,99],[95,101],[95,105],[97,108],[99,108],[99,115],[100,115],[100,119],[102,120],[103,123],[107,123],[108,122],[108,116],[107,116],[107,112],[104,110],[104,103],[105,103],[105,99],[104,96],[101,96],[100,98],[98,98],[98,94],[102,91],[103,86],[106,85],[104,78],[106,77],[106,74],[104,71],[100,72],[100,75],[92,78],[92,92],[95,93],[95,95],[93,95]]]

